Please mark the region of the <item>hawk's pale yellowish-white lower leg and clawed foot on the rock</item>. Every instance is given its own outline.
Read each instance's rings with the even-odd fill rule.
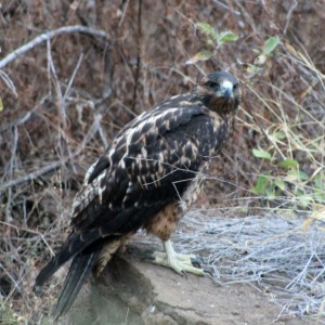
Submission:
[[[174,251],[170,240],[162,242],[166,252],[156,251],[153,262],[174,270],[177,273],[193,273],[204,275],[204,270],[194,265],[200,264],[194,255],[183,255]]]

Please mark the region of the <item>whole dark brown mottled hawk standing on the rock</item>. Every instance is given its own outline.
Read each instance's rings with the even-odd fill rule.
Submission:
[[[99,275],[115,252],[143,229],[164,243],[155,262],[202,275],[192,256],[174,251],[170,236],[195,202],[208,165],[227,136],[240,102],[226,72],[202,78],[126,125],[87,171],[72,212],[72,232],[41,270],[40,287],[73,259],[52,317],[64,315],[91,271]]]

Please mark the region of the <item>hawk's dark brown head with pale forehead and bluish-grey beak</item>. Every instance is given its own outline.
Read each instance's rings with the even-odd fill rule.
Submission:
[[[235,113],[242,96],[238,81],[226,72],[216,72],[202,78],[194,93],[209,109],[221,115]]]

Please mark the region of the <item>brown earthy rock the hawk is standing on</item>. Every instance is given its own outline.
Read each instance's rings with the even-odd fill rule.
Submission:
[[[278,313],[278,307],[247,285],[217,286],[209,276],[181,276],[127,252],[84,286],[61,324],[262,325]]]

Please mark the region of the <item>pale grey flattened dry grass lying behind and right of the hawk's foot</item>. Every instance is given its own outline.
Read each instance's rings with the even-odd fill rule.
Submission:
[[[213,266],[218,286],[248,284],[280,306],[268,322],[298,317],[325,324],[324,249],[322,223],[306,227],[303,218],[269,212],[233,217],[234,210],[192,210],[172,240],[183,253],[196,253]],[[134,244],[160,248],[140,234]]]

